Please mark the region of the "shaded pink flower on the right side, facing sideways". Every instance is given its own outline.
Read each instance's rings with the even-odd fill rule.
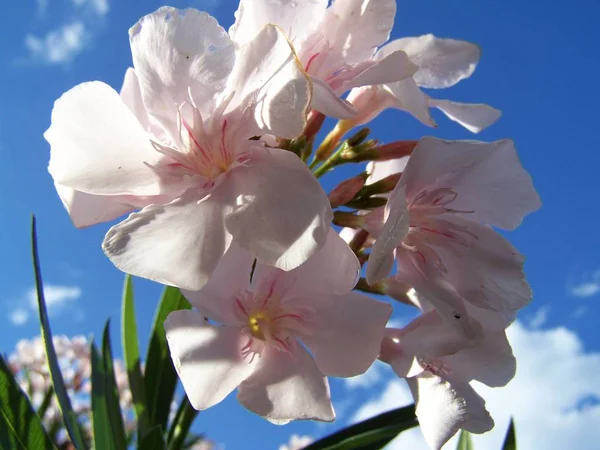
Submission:
[[[489,225],[514,229],[539,207],[512,141],[425,137],[390,194],[367,280],[384,278],[395,255],[396,279],[470,334],[464,301],[508,313],[531,299],[523,257]]]

